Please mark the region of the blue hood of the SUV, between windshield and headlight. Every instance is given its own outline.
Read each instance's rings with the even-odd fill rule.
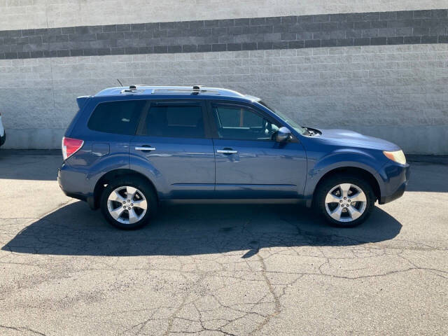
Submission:
[[[389,141],[374,137],[368,137],[367,135],[349,130],[318,130],[322,133],[318,136],[319,138],[325,141],[329,141],[333,144],[374,148],[381,151],[400,150],[400,147]]]

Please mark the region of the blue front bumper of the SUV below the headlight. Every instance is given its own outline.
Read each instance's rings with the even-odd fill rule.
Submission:
[[[392,202],[401,197],[406,190],[409,181],[409,165],[387,164],[381,169],[381,177],[384,188],[381,188],[379,204]]]

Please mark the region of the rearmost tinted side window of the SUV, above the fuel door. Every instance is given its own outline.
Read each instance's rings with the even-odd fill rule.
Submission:
[[[101,103],[94,109],[87,127],[98,132],[134,135],[145,104],[144,100]]]

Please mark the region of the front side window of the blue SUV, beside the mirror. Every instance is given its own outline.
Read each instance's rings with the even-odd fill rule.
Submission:
[[[244,106],[214,106],[220,139],[271,140],[279,125]]]

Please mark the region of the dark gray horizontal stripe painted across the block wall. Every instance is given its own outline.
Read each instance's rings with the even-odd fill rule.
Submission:
[[[0,59],[448,43],[448,10],[0,31]]]

